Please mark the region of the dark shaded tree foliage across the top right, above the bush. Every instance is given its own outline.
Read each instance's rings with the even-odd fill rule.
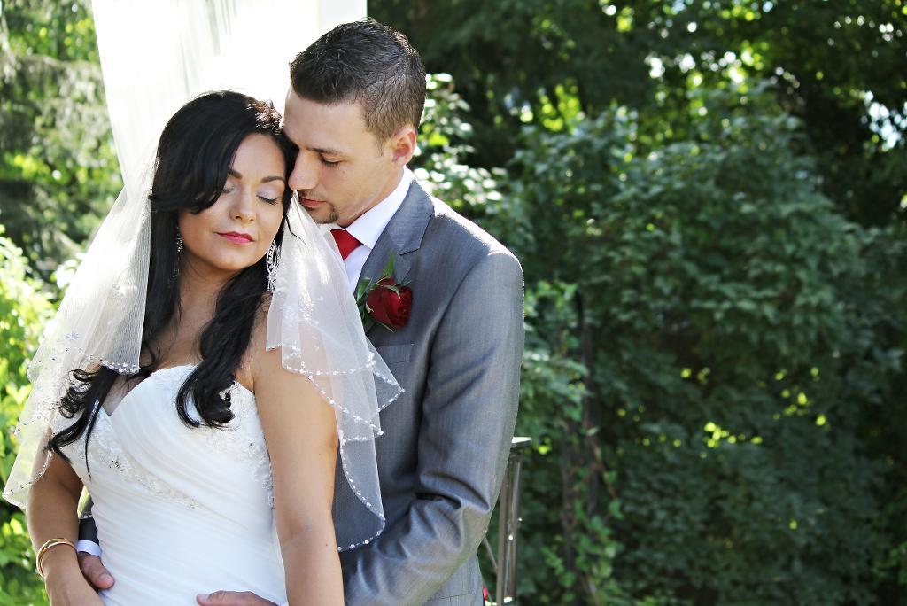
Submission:
[[[774,80],[805,122],[819,189],[863,224],[902,216],[907,196],[907,12],[902,0],[375,0],[430,72],[473,107],[470,164],[503,166],[524,123],[560,131],[612,103],[643,131],[682,141],[686,94]],[[878,103],[878,105],[873,105]],[[640,133],[641,134],[641,133]],[[900,135],[900,138],[898,138]]]

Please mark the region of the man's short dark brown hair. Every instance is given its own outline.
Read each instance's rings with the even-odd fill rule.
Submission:
[[[384,142],[416,130],[425,104],[425,68],[404,34],[374,19],[337,25],[290,64],[293,91],[316,103],[360,102],[366,128]]]

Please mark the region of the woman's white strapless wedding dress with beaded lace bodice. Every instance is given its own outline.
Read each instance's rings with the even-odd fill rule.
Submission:
[[[87,468],[84,437],[64,448],[92,495],[103,562],[116,580],[102,600],[189,606],[223,589],[287,601],[255,396],[234,384],[229,425],[190,428],[175,400],[192,368],[158,370],[112,414],[102,409]]]

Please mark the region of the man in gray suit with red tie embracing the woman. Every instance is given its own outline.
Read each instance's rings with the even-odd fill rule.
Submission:
[[[393,331],[375,323],[366,333],[405,392],[382,412],[375,441],[385,531],[340,556],[346,603],[476,606],[476,550],[517,411],[522,269],[406,168],[425,73],[403,34],[375,21],[339,25],[290,69],[285,132],[299,148],[290,187],[314,220],[336,226],[350,288],[380,278],[393,257],[394,282],[412,291],[375,311],[389,312],[377,319]],[[85,559],[90,580],[101,570]],[[270,603],[230,591],[199,602]]]

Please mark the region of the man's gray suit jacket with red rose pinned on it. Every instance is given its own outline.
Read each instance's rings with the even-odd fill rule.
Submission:
[[[346,602],[475,606],[520,393],[522,269],[416,181],[362,276],[380,276],[392,253],[395,280],[413,290],[409,322],[367,336],[405,393],[375,441],[385,532],[341,553]],[[338,523],[353,507],[337,495]]]

